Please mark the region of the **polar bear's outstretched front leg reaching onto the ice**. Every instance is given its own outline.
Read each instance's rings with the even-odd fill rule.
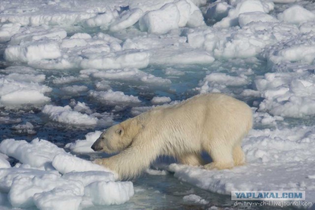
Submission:
[[[141,174],[159,155],[152,140],[134,141],[126,150],[109,158],[95,159],[94,163],[116,172],[121,180]]]

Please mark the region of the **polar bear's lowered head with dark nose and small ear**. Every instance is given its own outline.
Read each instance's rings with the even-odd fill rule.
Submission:
[[[125,135],[123,126],[117,124],[104,131],[91,148],[95,151],[115,153],[126,149],[130,143],[131,139]]]

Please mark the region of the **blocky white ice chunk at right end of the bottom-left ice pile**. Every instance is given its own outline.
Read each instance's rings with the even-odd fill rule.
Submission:
[[[86,186],[84,192],[95,205],[123,204],[134,193],[131,181],[96,181]]]

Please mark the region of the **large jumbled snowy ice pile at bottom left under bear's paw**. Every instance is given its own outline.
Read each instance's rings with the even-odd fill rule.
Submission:
[[[133,196],[132,182],[115,182],[116,174],[46,140],[27,143],[7,139],[0,143],[0,150],[0,191],[7,193],[14,208],[61,210],[67,206],[77,210],[83,199],[95,205],[112,205],[123,204]],[[23,164],[11,167],[4,154]]]

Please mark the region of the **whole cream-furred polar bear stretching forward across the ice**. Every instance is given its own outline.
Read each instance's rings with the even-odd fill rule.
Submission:
[[[252,109],[246,103],[221,93],[199,94],[108,128],[92,149],[120,153],[94,162],[129,179],[160,155],[201,166],[201,152],[206,151],[213,162],[205,169],[230,169],[245,163],[241,143],[251,128]]]

